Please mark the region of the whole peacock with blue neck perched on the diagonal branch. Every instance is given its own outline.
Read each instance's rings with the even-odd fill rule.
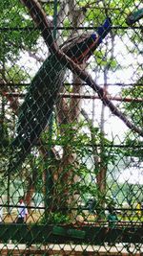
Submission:
[[[111,29],[111,19],[107,18],[96,33],[72,37],[61,46],[61,49],[75,63],[82,64],[92,56],[93,51]],[[19,109],[17,134],[10,145],[9,172],[24,162],[41,132],[47,126],[65,70],[66,66],[63,66],[59,59],[51,54],[32,79],[24,103]]]

